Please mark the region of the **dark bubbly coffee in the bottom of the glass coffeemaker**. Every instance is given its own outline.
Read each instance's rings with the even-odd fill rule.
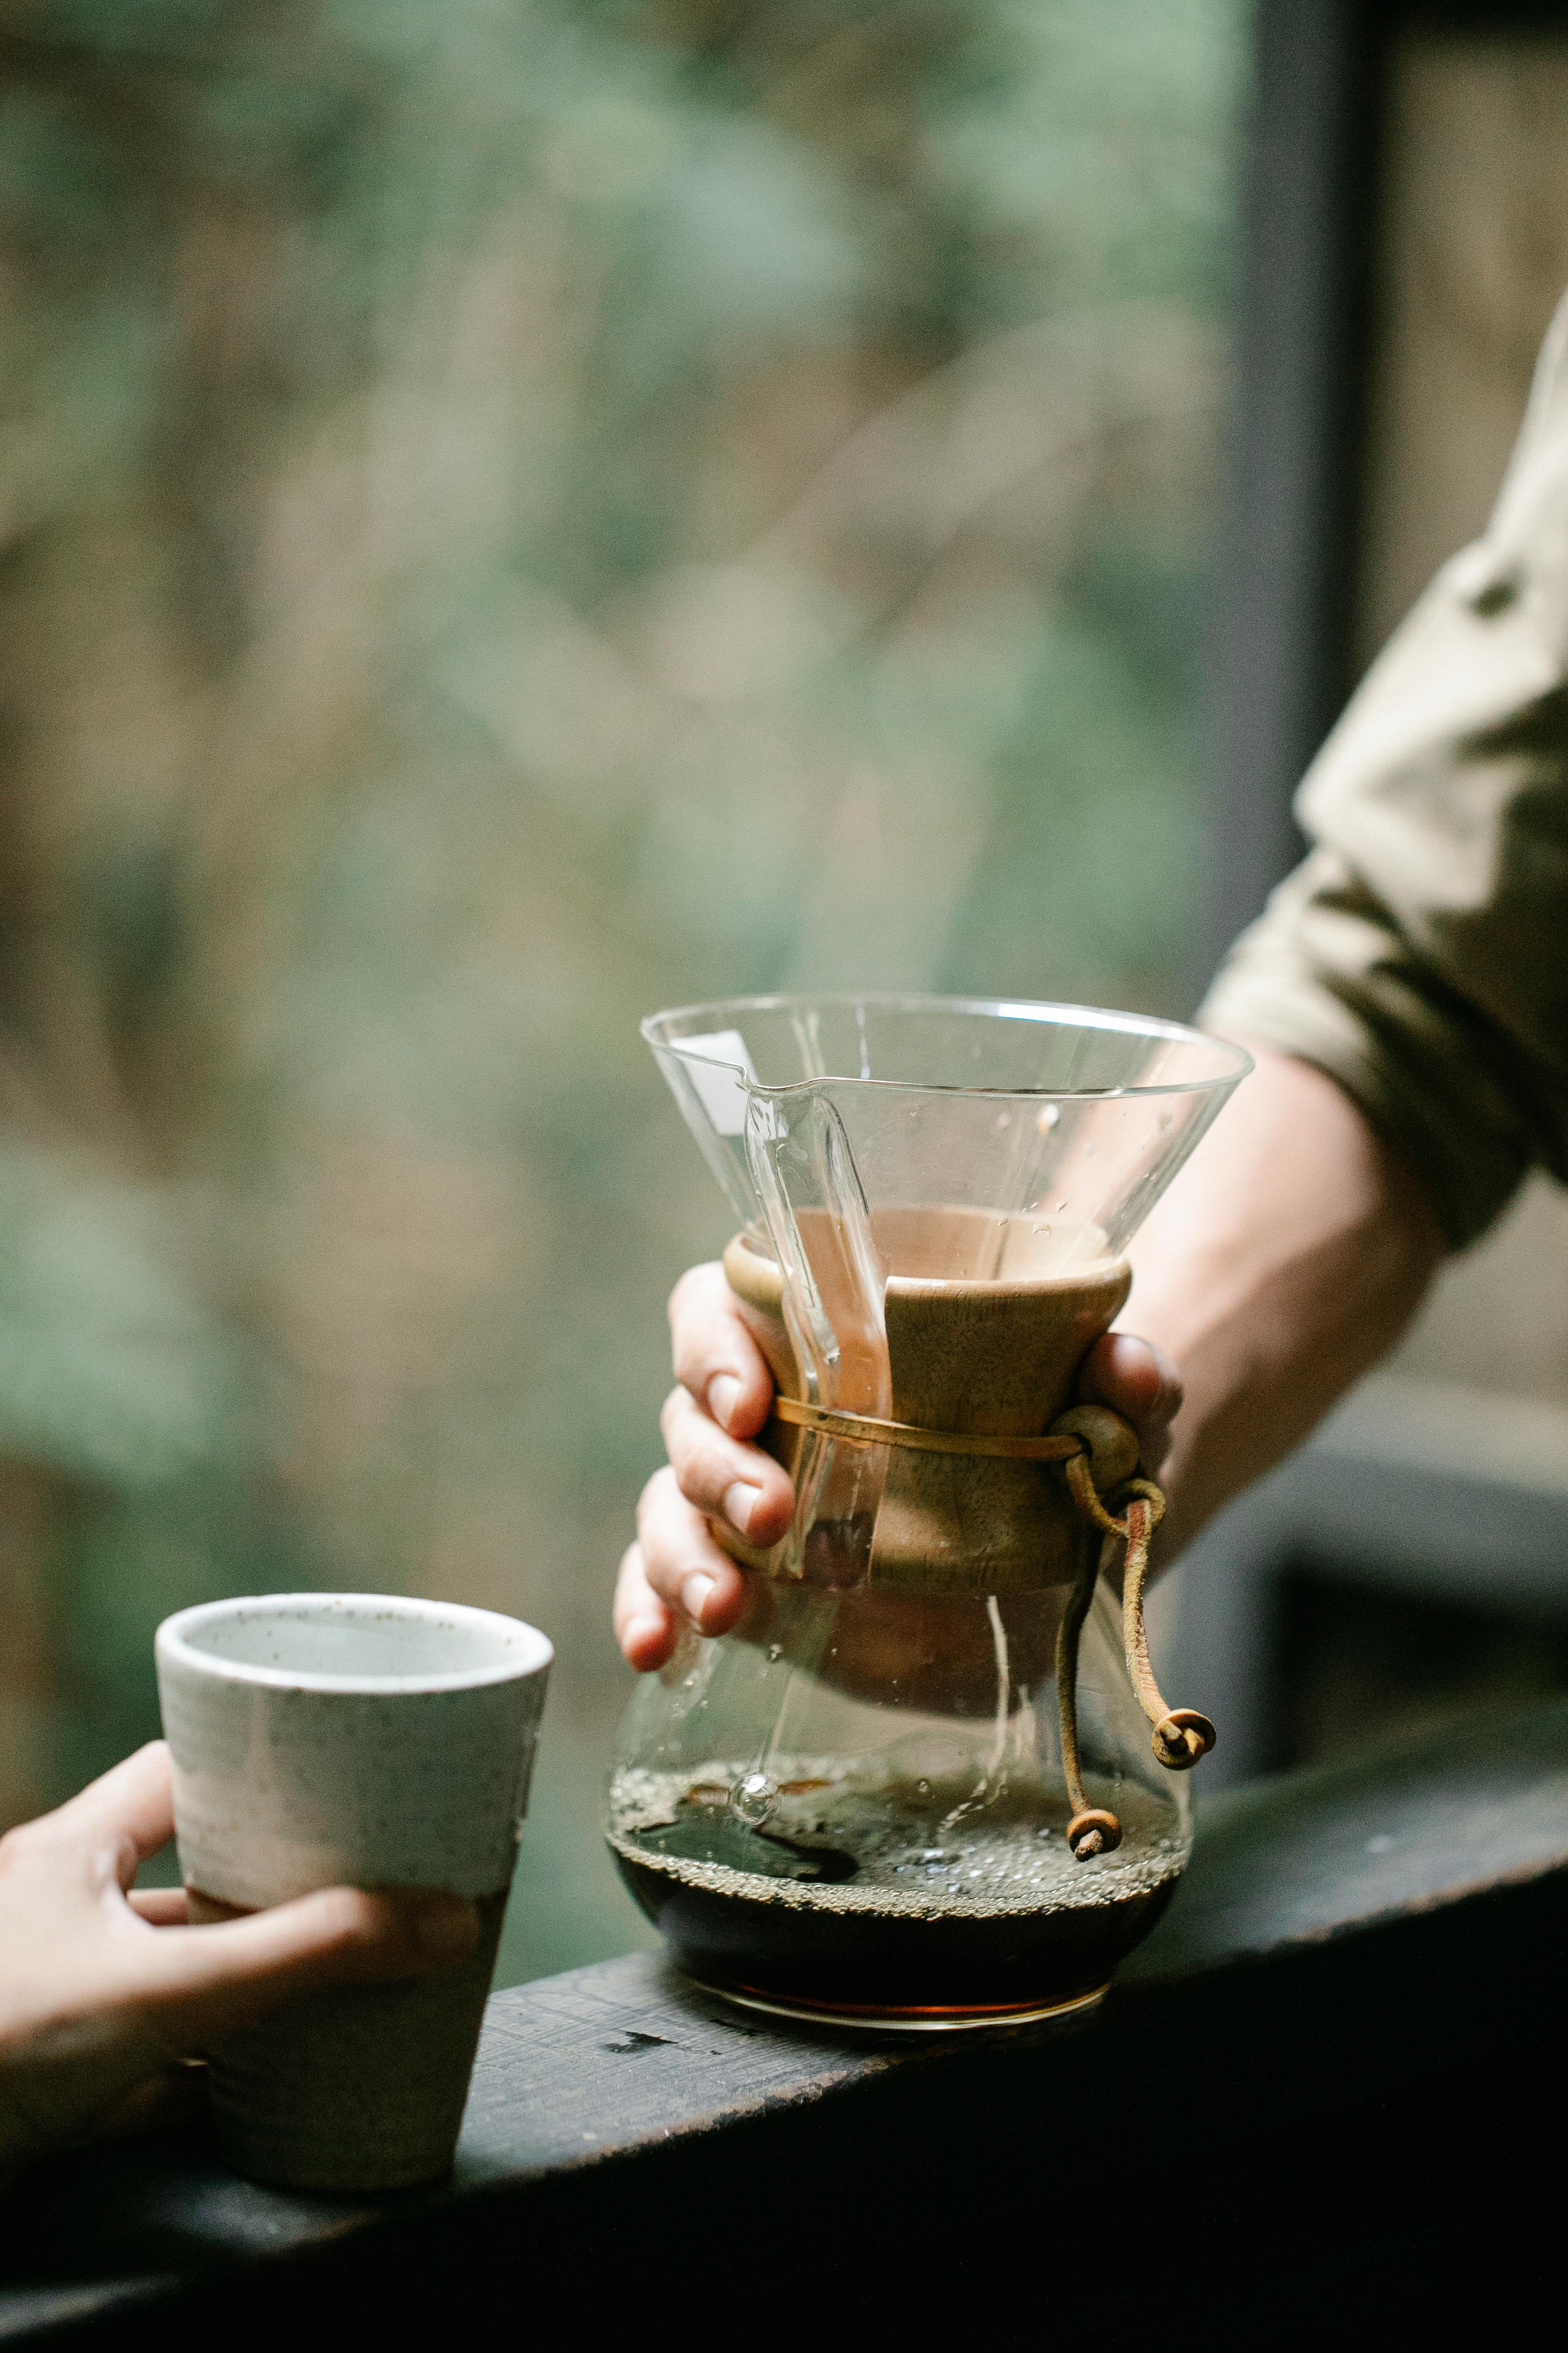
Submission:
[[[1105,1986],[1185,1861],[1164,1807],[1140,1807],[1126,1786],[1117,1807],[1124,1845],[1079,1864],[1065,1805],[1037,1784],[973,1802],[792,1760],[780,1777],[618,1774],[609,1838],[632,1897],[705,1984],[849,2019],[936,2021],[1048,2009]]]

